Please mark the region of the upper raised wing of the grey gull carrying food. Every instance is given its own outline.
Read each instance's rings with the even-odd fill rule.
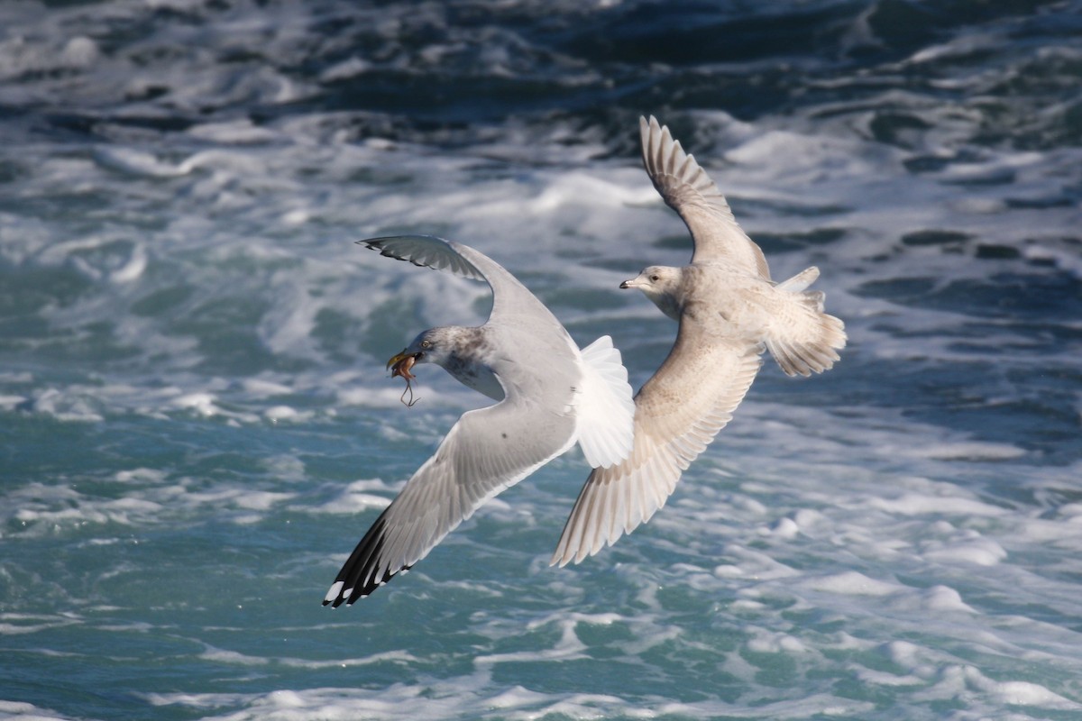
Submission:
[[[552,311],[529,289],[518,282],[503,266],[480,251],[453,240],[435,236],[388,236],[359,240],[380,255],[408,261],[415,266],[446,270],[447,272],[483,280],[492,289],[492,312],[489,319],[512,315],[538,315],[552,319],[559,325]],[[560,325],[560,331],[563,326]],[[566,335],[566,333],[564,333]],[[567,336],[570,342],[570,336]]]

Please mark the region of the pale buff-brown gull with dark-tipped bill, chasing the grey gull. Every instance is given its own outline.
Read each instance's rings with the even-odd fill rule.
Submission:
[[[815,267],[775,283],[763,251],[740,229],[717,186],[668,128],[639,119],[643,163],[665,204],[691,233],[684,267],[650,266],[620,288],[643,292],[679,323],[676,342],[635,396],[635,441],[622,463],[586,479],[552,557],[578,563],[645,523],[681,473],[725,427],[765,350],[788,375],[830,369],[844,324],[806,290]]]

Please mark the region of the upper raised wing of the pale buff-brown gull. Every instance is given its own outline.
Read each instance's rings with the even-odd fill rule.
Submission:
[[[638,119],[643,165],[665,204],[676,211],[695,241],[691,263],[723,263],[770,280],[763,251],[737,225],[725,196],[695,156],[684,152],[669,128],[650,116]]]

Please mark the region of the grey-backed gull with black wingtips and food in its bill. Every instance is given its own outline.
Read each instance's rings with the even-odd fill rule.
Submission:
[[[408,383],[415,364],[436,363],[498,402],[463,413],[375,520],[324,599],[335,607],[409,570],[485,502],[576,442],[591,466],[619,463],[631,451],[635,411],[611,338],[580,350],[556,317],[488,256],[432,236],[359,242],[489,284],[492,310],[485,324],[424,331],[387,365]]]

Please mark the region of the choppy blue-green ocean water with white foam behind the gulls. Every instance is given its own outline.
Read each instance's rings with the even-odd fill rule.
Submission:
[[[633,384],[656,115],[849,345],[645,526],[573,451],[352,607],[487,253]],[[1082,3],[0,4],[0,719],[1082,718]]]

